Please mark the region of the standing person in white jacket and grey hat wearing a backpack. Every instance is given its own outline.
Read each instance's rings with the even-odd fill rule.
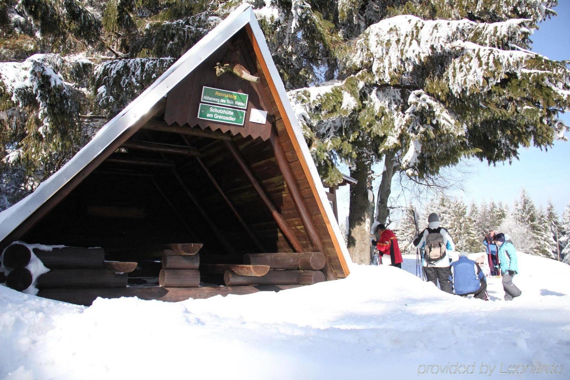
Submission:
[[[449,232],[439,226],[439,216],[431,213],[427,217],[427,228],[414,238],[414,246],[423,249],[422,266],[427,281],[431,281],[443,292],[453,294],[451,286],[450,256],[447,251],[455,249],[453,238]]]

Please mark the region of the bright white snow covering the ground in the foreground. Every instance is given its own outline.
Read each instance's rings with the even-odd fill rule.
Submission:
[[[415,261],[406,256],[404,269],[414,273]],[[519,261],[523,294],[512,302],[499,278],[488,279],[484,302],[387,265],[174,304],[97,299],[84,308],[0,286],[0,379],[473,378],[488,377],[486,366],[491,377],[568,379],[570,266]],[[510,365],[526,374],[505,374]],[[532,374],[539,365],[551,366]]]

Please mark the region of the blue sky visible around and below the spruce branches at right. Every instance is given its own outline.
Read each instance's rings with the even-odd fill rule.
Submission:
[[[558,17],[540,25],[532,36],[532,50],[550,59],[570,60],[570,0],[560,0],[555,8]],[[570,124],[570,114],[561,115]],[[570,134],[567,134],[567,137]],[[348,174],[348,168],[341,168]],[[376,168],[376,172],[378,172]],[[512,205],[512,201],[526,187],[537,205],[547,203],[548,197],[561,215],[564,206],[570,201],[570,142],[557,142],[548,151],[539,148],[519,150],[519,160],[511,165],[497,164],[495,167],[478,160],[467,160],[459,169],[465,171],[465,191],[455,191],[453,195],[463,197],[465,203],[492,198]],[[375,191],[378,184],[375,184]],[[337,193],[339,197],[339,221],[348,215],[348,186]]]

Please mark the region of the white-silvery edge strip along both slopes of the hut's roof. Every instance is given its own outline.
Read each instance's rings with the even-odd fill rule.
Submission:
[[[301,153],[307,163],[307,167],[315,184],[321,204],[327,214],[328,220],[331,221],[330,225],[337,242],[339,242],[341,253],[343,254],[344,260],[347,264],[351,265],[352,261],[348,254],[348,249],[344,244],[343,235],[340,232],[338,224],[333,222],[336,218],[328,203],[327,195],[324,191],[323,185],[321,184],[321,179],[317,172],[315,163],[312,160],[309,148],[304,140],[303,132],[295,117],[295,112],[291,107],[291,103],[288,100],[287,92],[283,86],[279,72],[271,58],[271,52],[267,47],[266,39],[259,27],[257,19],[255,18],[253,7],[247,3],[243,3],[237,7],[237,9],[230,13],[225,20],[214,27],[214,29],[198,41],[196,45],[182,55],[180,59],[174,62],[172,66],[170,66],[170,68],[168,68],[168,70],[166,70],[164,74],[156,80],[156,82],[146,88],[146,90],[128,104],[124,110],[119,112],[119,114],[105,124],[105,126],[101,128],[95,136],[93,136],[92,140],[74,157],[72,157],[70,161],[63,165],[59,171],[44,181],[33,193],[9,209],[1,212],[0,240],[4,240],[11,232],[14,231],[15,228],[23,223],[27,217],[32,215],[40,205],[50,199],[51,196],[55,195],[59,189],[77,175],[84,167],[86,167],[94,157],[103,152],[103,150],[118,136],[133,127],[137,120],[144,116],[146,112],[154,106],[154,104],[164,98],[164,96],[166,96],[166,94],[168,94],[168,92],[176,86],[178,82],[184,79],[189,72],[192,72],[194,68],[202,63],[203,59],[209,56],[211,52],[216,51],[235,33],[248,24],[253,31],[255,41],[257,42],[260,54],[262,55],[259,58],[264,60],[271,79],[274,82],[275,90],[277,91],[277,94],[274,94],[274,96],[278,96],[280,98],[286,113],[286,115],[282,115],[282,117],[289,120],[294,132],[294,136],[291,136],[291,139],[295,137],[299,143]]]

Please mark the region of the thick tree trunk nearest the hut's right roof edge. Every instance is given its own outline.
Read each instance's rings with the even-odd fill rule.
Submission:
[[[374,217],[371,168],[372,161],[363,159],[356,159],[351,168],[351,177],[358,182],[351,186],[348,252],[356,264],[370,264],[370,225]]]

